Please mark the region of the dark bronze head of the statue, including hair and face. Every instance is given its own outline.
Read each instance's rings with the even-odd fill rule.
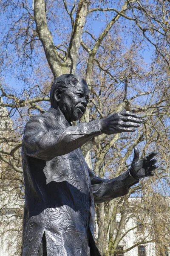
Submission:
[[[52,108],[59,108],[67,121],[79,120],[88,104],[88,84],[79,76],[64,74],[57,77],[51,86]]]

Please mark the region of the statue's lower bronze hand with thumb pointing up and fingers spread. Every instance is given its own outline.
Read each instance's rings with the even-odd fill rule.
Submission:
[[[135,179],[154,176],[155,174],[152,171],[158,168],[158,166],[155,165],[157,160],[152,158],[157,154],[157,151],[153,151],[147,157],[144,157],[140,160],[139,149],[135,147],[133,161],[129,169],[130,175]]]

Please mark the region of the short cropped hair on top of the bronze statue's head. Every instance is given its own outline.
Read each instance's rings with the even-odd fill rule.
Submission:
[[[63,91],[71,88],[71,87],[79,87],[81,84],[82,87],[85,87],[88,90],[88,84],[84,79],[82,79],[79,76],[73,75],[73,74],[64,74],[61,76],[58,76],[55,80],[54,83],[51,86],[51,92],[50,92],[50,102],[51,102],[51,107],[55,105],[55,97],[54,93],[59,90],[60,93]]]

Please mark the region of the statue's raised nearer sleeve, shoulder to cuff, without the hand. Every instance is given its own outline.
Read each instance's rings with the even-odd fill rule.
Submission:
[[[23,148],[28,156],[51,160],[74,151],[100,134],[98,120],[48,131],[43,117],[33,118],[26,125]]]

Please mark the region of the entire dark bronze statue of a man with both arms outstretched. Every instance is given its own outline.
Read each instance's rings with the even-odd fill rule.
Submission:
[[[153,176],[157,152],[134,159],[119,177],[102,179],[89,169],[80,147],[102,133],[133,132],[142,124],[129,111],[72,126],[88,104],[88,85],[65,74],[51,87],[51,108],[31,118],[23,137],[25,209],[22,256],[99,256],[94,203],[126,195],[139,178]]]

